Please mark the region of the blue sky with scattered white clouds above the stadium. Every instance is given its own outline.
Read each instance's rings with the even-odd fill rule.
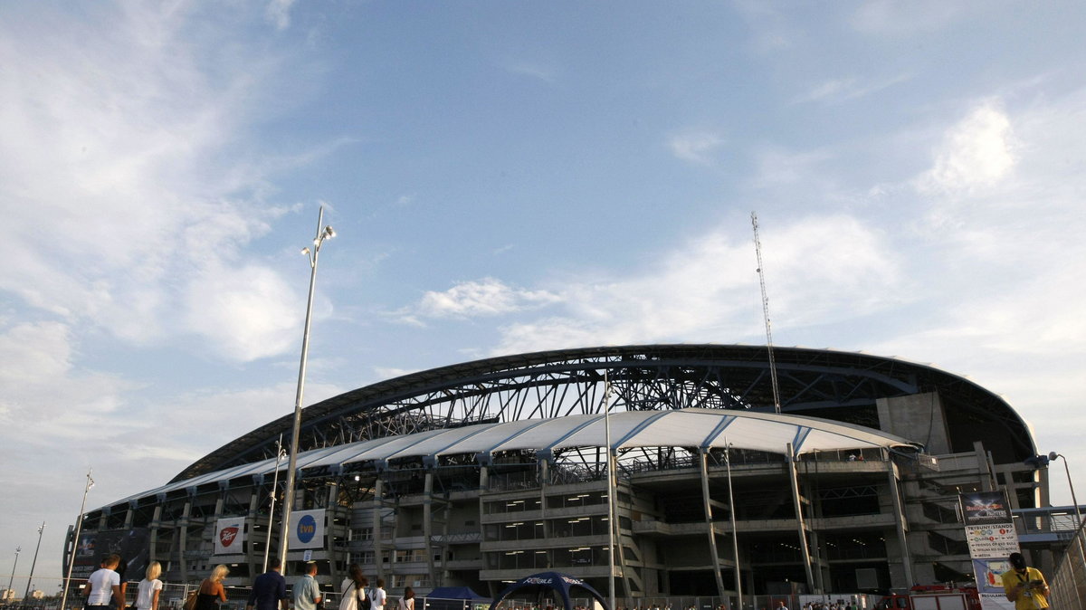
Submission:
[[[306,404],[760,343],[756,209],[778,344],[968,374],[1086,481],[1084,13],[3,3],[0,574],[45,520],[60,575],[88,467],[98,507],[290,412],[320,205]]]

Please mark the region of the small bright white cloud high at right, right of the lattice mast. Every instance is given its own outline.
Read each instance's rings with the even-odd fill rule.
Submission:
[[[921,176],[924,192],[968,191],[997,185],[1014,166],[1011,123],[997,102],[984,102],[949,129],[935,165]]]

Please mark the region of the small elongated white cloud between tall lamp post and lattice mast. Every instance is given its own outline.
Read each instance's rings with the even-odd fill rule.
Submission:
[[[545,290],[508,287],[494,278],[457,283],[444,292],[427,292],[414,314],[422,317],[496,316],[556,303],[560,297]]]

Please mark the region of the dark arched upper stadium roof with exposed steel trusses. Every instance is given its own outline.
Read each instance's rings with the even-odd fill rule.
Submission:
[[[951,445],[971,450],[972,442],[981,440],[999,454],[997,461],[1020,461],[1035,453],[1027,427],[1010,405],[960,376],[926,365],[861,353],[775,347],[774,356],[784,415],[833,420],[837,424],[849,424],[856,433],[861,428],[877,429],[877,399],[937,392],[951,430]],[[543,436],[543,433],[565,425],[558,421],[581,422],[585,430],[592,430],[591,434],[598,433],[593,422],[599,418],[605,376],[617,389],[610,406],[616,412],[613,422],[624,421],[619,419],[620,416],[624,418],[622,410],[648,411],[649,416],[659,417],[652,424],[645,424],[654,430],[665,430],[673,421],[692,422],[695,412],[705,410],[744,414],[743,422],[746,423],[749,416],[765,416],[761,411],[772,410],[773,405],[763,346],[633,345],[560,350],[416,372],[316,403],[303,410],[301,448],[311,453],[328,452],[327,459],[336,461],[340,458],[331,456],[348,455],[355,450],[352,447],[362,446],[358,443],[374,443],[367,445],[366,450],[380,456],[383,454],[377,450],[378,447],[388,444],[391,449],[402,442],[396,437],[413,435],[412,443],[429,447],[430,454],[426,455],[479,453],[487,449],[487,443],[507,434],[509,444],[501,445],[500,450],[520,446],[519,443],[523,443],[525,448],[545,449],[548,445],[543,441],[553,440],[553,436]],[[681,417],[687,419],[660,416],[673,409],[682,409],[685,415]],[[201,458],[180,472],[174,482],[217,471],[244,470],[247,466],[255,472],[260,470],[255,462],[276,455],[276,440],[280,434],[289,435],[292,424],[293,416],[285,415],[262,425]],[[492,425],[480,428],[478,424]],[[692,430],[686,425],[681,428],[686,435]],[[453,433],[456,429],[470,431],[471,435],[460,436],[469,432]],[[581,442],[590,434],[569,433],[571,442]],[[627,433],[633,433],[633,429]],[[813,427],[811,434],[816,434]],[[634,434],[629,441],[636,437]],[[735,442],[737,436],[730,437]],[[915,441],[926,442],[925,439]],[[442,446],[443,443],[447,446]],[[696,443],[691,443],[691,439],[682,443],[692,444]],[[392,457],[405,455],[393,454]]]

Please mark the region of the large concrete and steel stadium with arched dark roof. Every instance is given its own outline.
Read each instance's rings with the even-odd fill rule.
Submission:
[[[1023,463],[1027,424],[976,383],[863,353],[772,354],[775,366],[749,345],[550,351],[313,404],[288,562],[312,557],[337,585],[357,562],[392,594],[493,596],[547,570],[598,590],[614,575],[627,599],[884,590],[972,579],[960,494],[1048,505],[1047,471]],[[129,569],[162,562],[169,582],[226,563],[227,584],[250,584],[279,545],[292,424],[87,512],[78,539],[68,532],[72,575],[109,549]]]

